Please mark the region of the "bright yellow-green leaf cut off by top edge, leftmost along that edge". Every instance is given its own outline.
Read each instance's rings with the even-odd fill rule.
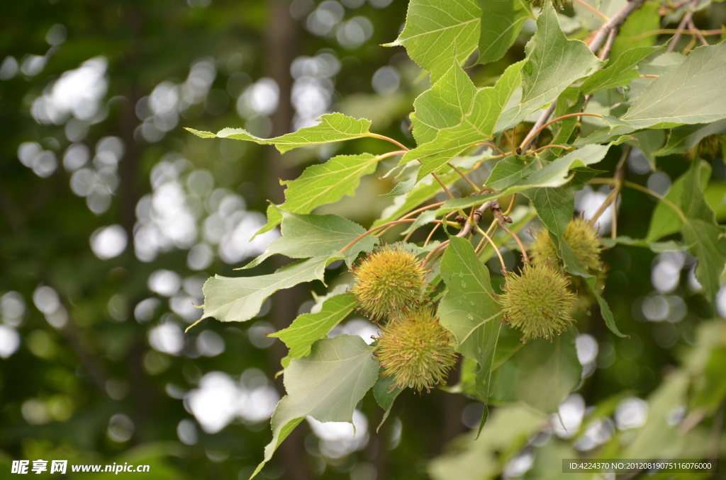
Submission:
[[[476,0],[410,0],[406,26],[386,46],[405,46],[409,57],[431,72],[433,83],[452,60],[461,65],[476,50],[480,20]]]

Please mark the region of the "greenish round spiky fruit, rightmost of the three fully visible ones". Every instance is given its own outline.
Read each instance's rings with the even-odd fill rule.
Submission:
[[[575,295],[552,262],[526,264],[520,275],[507,272],[504,291],[498,298],[504,320],[522,331],[522,342],[538,336],[551,342],[572,323]]]

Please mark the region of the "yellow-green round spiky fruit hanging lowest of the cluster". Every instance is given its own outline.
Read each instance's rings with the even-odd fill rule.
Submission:
[[[433,307],[413,310],[383,328],[373,351],[383,374],[393,376],[396,387],[421,392],[446,383],[456,363],[452,336],[439,323]]]

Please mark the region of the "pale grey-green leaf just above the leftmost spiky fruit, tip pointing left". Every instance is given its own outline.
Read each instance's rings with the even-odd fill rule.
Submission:
[[[338,252],[366,230],[357,223],[338,215],[298,215],[282,210],[282,236],[270,243],[265,252],[244,268],[253,268],[275,254],[290,258],[322,257]],[[365,236],[346,250],[346,264],[350,267],[359,252],[370,251],[378,243],[373,236]]]

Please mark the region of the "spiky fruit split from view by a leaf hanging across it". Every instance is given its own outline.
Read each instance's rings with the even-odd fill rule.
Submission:
[[[597,238],[597,228],[592,228],[584,218],[575,218],[568,223],[564,237],[583,268],[593,274],[602,270],[600,253],[603,251],[603,244]],[[546,228],[534,233],[530,255],[533,263],[540,264],[549,260],[562,266],[555,244],[550,239],[550,232]]]

